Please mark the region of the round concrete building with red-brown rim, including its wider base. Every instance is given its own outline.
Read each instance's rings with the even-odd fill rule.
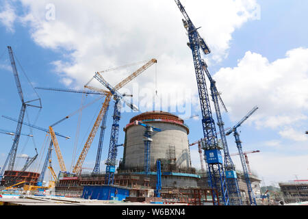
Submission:
[[[162,131],[153,133],[150,149],[150,171],[144,172],[144,127],[134,122],[142,121]],[[123,162],[118,175],[136,175],[149,180],[155,186],[157,159],[162,162],[163,187],[196,187],[200,178],[190,161],[188,146],[189,129],[181,118],[168,112],[144,112],[129,120],[124,128],[125,142]]]

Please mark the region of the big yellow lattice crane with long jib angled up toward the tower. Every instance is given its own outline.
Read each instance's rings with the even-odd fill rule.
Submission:
[[[114,88],[116,90],[123,88],[123,86],[125,86],[127,83],[129,83],[129,81],[133,80],[135,77],[137,77],[142,72],[144,72],[144,70],[146,70],[147,68],[149,68],[151,65],[153,65],[155,63],[157,63],[157,60],[155,60],[155,59],[150,60],[149,62],[144,64],[141,68],[139,68],[134,73],[129,75],[129,77],[125,78],[123,81],[118,83]],[[89,88],[89,89],[92,88],[92,87],[87,86],[87,85],[85,87]],[[75,174],[79,174],[79,172],[81,171],[82,164],[84,164],[84,159],[86,159],[86,155],[87,155],[88,150],[90,149],[90,146],[92,144],[92,141],[93,141],[93,139],[94,139],[94,137],[97,133],[97,129],[99,129],[99,125],[101,124],[101,120],[103,119],[104,114],[107,112],[107,109],[108,109],[108,106],[109,106],[109,103],[110,103],[110,99],[112,98],[112,93],[110,91],[105,91],[105,93],[106,93],[106,96],[105,96],[105,101],[103,103],[103,106],[101,107],[101,110],[99,111],[99,115],[97,116],[97,120],[95,120],[95,123],[92,127],[92,130],[90,131],[90,134],[88,136],[88,140],[86,141],[86,144],[84,144],[84,149],[81,151],[81,154],[79,155],[77,163],[73,168],[73,173],[75,173]]]

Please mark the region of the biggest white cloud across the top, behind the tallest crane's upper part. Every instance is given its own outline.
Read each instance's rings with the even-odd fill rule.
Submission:
[[[55,60],[55,72],[66,86],[83,86],[94,71],[155,57],[157,90],[174,96],[180,89],[197,95],[192,54],[187,47],[181,12],[174,1],[53,1],[55,19],[45,17],[49,1],[21,0],[28,13],[21,18],[30,27],[31,38],[41,47],[63,53]],[[250,1],[183,1],[185,9],[211,51],[211,62],[228,54],[235,29],[255,18],[257,3]],[[204,11],[206,8],[206,13]],[[227,19],[226,19],[227,17]],[[153,67],[152,67],[153,68]],[[136,70],[137,68],[135,68]],[[106,73],[112,84],[129,71]],[[146,70],[135,81],[155,90],[155,71]],[[68,79],[72,79],[68,83]],[[96,86],[101,86],[99,83]],[[132,88],[128,85],[127,88]],[[177,95],[177,101],[183,101]],[[176,102],[176,101],[175,101]],[[192,98],[192,103],[198,103]]]

